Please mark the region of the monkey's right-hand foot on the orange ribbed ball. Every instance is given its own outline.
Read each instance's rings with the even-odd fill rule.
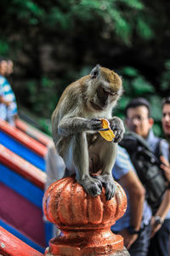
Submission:
[[[98,179],[105,187],[105,197],[106,200],[111,200],[115,195],[116,186],[113,177],[110,174],[99,175],[95,177]]]

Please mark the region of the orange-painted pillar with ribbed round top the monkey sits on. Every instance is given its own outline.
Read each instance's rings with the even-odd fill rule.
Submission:
[[[49,241],[45,255],[92,256],[129,255],[122,236],[111,232],[111,225],[121,218],[127,197],[116,183],[116,194],[105,200],[101,195],[88,195],[75,177],[65,177],[51,184],[43,197],[43,211],[48,220],[61,230]]]

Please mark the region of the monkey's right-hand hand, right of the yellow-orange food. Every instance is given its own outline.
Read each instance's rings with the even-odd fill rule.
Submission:
[[[122,119],[119,119],[118,117],[113,117],[109,121],[110,121],[111,130],[115,134],[114,143],[119,143],[122,140],[123,133],[125,132]]]

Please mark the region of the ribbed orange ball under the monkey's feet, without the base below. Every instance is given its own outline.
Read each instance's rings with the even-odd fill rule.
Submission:
[[[116,183],[116,194],[105,200],[105,189],[96,197],[88,195],[75,177],[65,177],[51,184],[43,197],[43,211],[48,220],[63,229],[85,229],[111,226],[127,207],[122,187]]]

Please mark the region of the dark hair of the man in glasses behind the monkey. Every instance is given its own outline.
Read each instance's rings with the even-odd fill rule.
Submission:
[[[125,116],[127,117],[127,110],[129,108],[137,108],[144,106],[148,109],[148,117],[150,117],[150,102],[142,97],[134,98],[131,102],[128,102],[127,107],[125,108]]]

